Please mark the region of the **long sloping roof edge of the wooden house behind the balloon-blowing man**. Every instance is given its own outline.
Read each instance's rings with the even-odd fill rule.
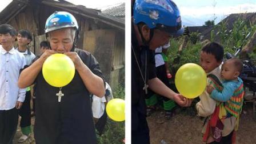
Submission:
[[[107,25],[117,27],[118,29],[125,30],[124,19],[113,17],[111,15],[106,15],[101,13],[99,10],[88,9],[85,6],[74,5],[73,3],[59,0],[13,0],[5,9],[0,13],[0,23],[9,22],[10,19],[14,18],[20,11],[25,9],[30,3],[38,3],[51,7],[58,7],[65,11],[81,15],[82,17],[91,18],[95,21],[106,23]]]

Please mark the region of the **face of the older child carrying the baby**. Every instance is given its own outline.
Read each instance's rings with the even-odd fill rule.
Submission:
[[[210,73],[216,67],[221,65],[221,62],[218,62],[213,54],[207,54],[205,51],[201,51],[200,65],[203,68],[203,70],[205,70],[205,73]]]

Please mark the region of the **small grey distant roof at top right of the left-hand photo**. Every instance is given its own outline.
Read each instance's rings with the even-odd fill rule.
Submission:
[[[110,9],[103,10],[102,13],[111,15],[113,17],[125,18],[125,3],[119,6],[111,7]]]

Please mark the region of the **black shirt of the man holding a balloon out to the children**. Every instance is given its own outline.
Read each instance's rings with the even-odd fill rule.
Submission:
[[[146,114],[145,90],[143,90],[143,87],[144,87],[143,78],[145,79],[145,69],[146,69],[146,76],[147,76],[146,82],[149,79],[156,77],[155,58],[154,58],[155,54],[153,50],[149,49],[149,46],[139,46],[138,40],[136,37],[136,31],[134,30],[133,24],[131,26],[131,45],[134,49],[135,55],[139,63],[139,66],[138,66],[133,49],[131,49],[131,105],[132,107],[136,107],[136,109],[140,113]],[[142,71],[143,78],[141,73],[139,72],[139,68]]]

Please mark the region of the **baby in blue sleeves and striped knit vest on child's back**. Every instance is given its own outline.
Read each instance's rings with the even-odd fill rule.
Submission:
[[[243,89],[243,81],[238,77],[241,74],[242,69],[243,63],[238,58],[228,59],[221,67],[221,78],[223,80],[222,91],[215,89],[211,85],[207,86],[207,93],[211,94],[211,98],[219,102],[224,102],[220,105],[225,109],[219,111],[221,120],[223,117],[231,116],[237,118],[237,121],[239,120],[239,114],[241,113],[243,105],[243,95],[245,93]],[[237,131],[237,129],[238,122],[235,131]],[[213,141],[216,138],[210,135],[209,139],[212,139]]]

